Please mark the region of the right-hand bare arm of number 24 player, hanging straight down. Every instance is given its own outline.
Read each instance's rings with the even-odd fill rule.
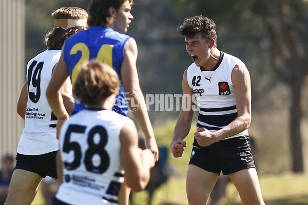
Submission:
[[[136,41],[133,38],[130,38],[124,48],[124,60],[121,67],[122,82],[125,92],[132,93],[133,96],[136,97],[138,100],[140,109],[137,109],[136,111],[132,112],[132,114],[136,118],[138,124],[142,129],[142,132],[145,135],[146,147],[150,149],[153,154],[155,154],[155,158],[156,160],[158,160],[158,147],[156,144],[151,121],[146,109],[144,96],[139,85],[139,78],[136,66],[137,56],[138,48]],[[128,100],[128,104],[132,110],[133,107],[130,100]]]

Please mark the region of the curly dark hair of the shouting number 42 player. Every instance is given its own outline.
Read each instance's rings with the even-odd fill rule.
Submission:
[[[192,38],[197,34],[201,34],[206,40],[215,39],[216,47],[216,25],[214,20],[203,15],[185,18],[184,23],[177,27],[178,32],[188,38]]]

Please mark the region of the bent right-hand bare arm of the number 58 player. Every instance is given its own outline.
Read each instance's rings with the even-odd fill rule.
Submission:
[[[120,132],[121,163],[128,186],[135,192],[143,190],[150,179],[150,169],[155,165],[154,155],[149,149],[138,148],[136,126],[129,121]]]

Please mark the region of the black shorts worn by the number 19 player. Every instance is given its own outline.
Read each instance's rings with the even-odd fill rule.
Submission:
[[[41,155],[24,155],[17,153],[15,170],[34,172],[45,178],[47,175],[57,179],[56,153],[49,152]]]

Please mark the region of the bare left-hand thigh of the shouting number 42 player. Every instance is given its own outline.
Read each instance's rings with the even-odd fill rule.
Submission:
[[[206,204],[217,177],[217,173],[207,172],[195,165],[189,165],[186,178],[186,192],[189,205]]]

